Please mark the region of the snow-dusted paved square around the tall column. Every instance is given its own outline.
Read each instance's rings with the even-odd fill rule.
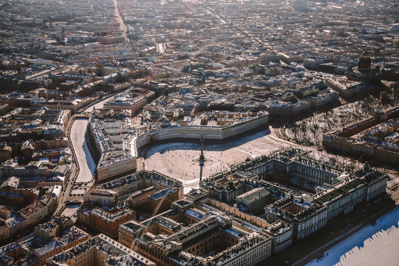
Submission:
[[[237,140],[224,143],[204,143],[205,166],[202,178],[213,173],[228,170],[229,165],[238,163],[262,154],[269,154],[281,147],[283,143],[268,137],[269,130],[237,137]],[[185,193],[199,185],[198,158],[201,144],[190,142],[173,142],[155,145],[143,151],[145,169],[155,170],[184,183]]]

